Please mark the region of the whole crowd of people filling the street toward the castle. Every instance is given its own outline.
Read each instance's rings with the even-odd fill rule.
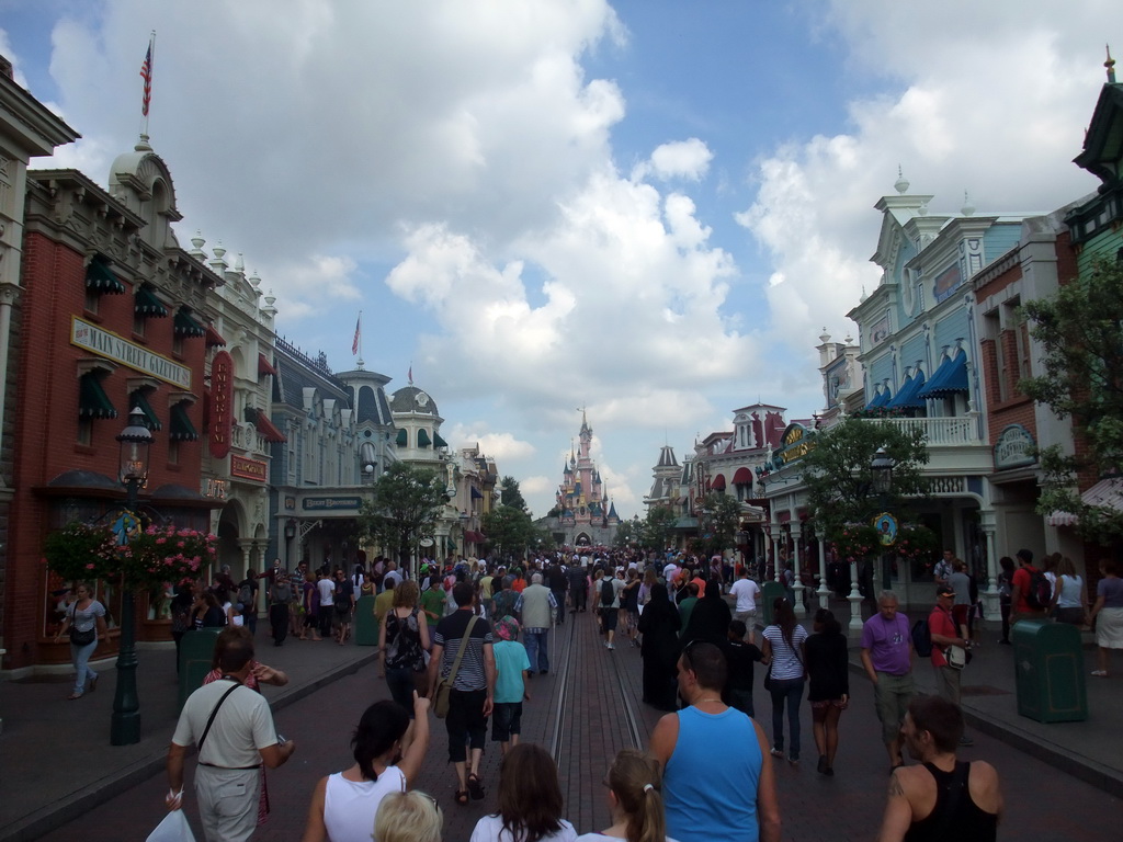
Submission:
[[[949,553],[950,555],[950,553]],[[1112,561],[1102,565],[1095,601],[1086,601],[1071,562],[1050,566],[1048,592],[1028,550],[1003,559],[1010,611],[1004,620],[1053,615],[1059,622],[1095,622],[1102,671],[1107,652],[1123,648],[1123,585]],[[1010,562],[1010,564],[1007,564]],[[378,675],[390,698],[371,705],[355,727],[355,763],[312,789],[303,839],[438,840],[441,814],[424,794],[410,791],[429,749],[432,708],[445,720],[455,802],[487,797],[481,761],[497,743],[501,771],[494,813],[480,821],[473,842],[560,840],[775,840],[779,807],[774,763],[797,768],[801,706],[811,707],[816,771],[836,774],[839,723],[850,699],[847,638],[828,608],[810,631],[797,622],[792,600],[779,596],[761,613],[761,588],[750,570],[718,559],[629,553],[559,556],[511,566],[426,560],[417,578],[378,559],[350,573],[327,565],[292,573],[275,562],[235,583],[222,569],[210,586],[184,582],[172,605],[179,644],[193,629],[221,628],[213,669],[188,699],[168,752],[167,806],[182,806],[189,747],[198,754],[195,795],[208,839],[249,839],[266,821],[265,769],[292,757],[295,744],[276,733],[259,685],[289,677],[255,653],[255,625],[264,588],[271,638],[345,643],[357,600],[374,596],[378,623]],[[962,652],[973,644],[974,595],[957,559],[938,565],[935,605],[926,625],[935,697],[913,683],[915,630],[896,595],[877,596],[865,622],[860,660],[873,685],[875,713],[889,760],[891,786],[879,839],[925,839],[925,827],[982,829],[993,839],[1002,807],[994,769],[964,763],[956,751],[970,745],[959,708]],[[1041,593],[1034,593],[1041,589]],[[85,585],[75,588],[60,631],[71,634],[76,685],[71,698],[97,687],[89,657],[104,635],[104,608]],[[1072,605],[1071,602],[1079,604]],[[1005,602],[1005,600],[1004,600]],[[1077,615],[1079,612],[1079,615]],[[642,660],[643,702],[664,711],[648,751],[624,751],[604,779],[611,826],[577,835],[566,821],[553,759],[520,741],[522,706],[536,675],[550,671],[548,632],[587,613],[606,650],[636,647]],[[1008,634],[1004,624],[1004,639]],[[92,638],[92,641],[90,640]],[[770,701],[770,731],[755,719],[756,665]],[[905,754],[921,766],[905,766]],[[705,775],[701,771],[705,770]],[[952,787],[959,795],[948,802]],[[393,816],[391,818],[390,816]],[[944,820],[941,820],[944,821]],[[920,834],[920,835],[917,835]],[[975,838],[975,836],[971,836]]]

